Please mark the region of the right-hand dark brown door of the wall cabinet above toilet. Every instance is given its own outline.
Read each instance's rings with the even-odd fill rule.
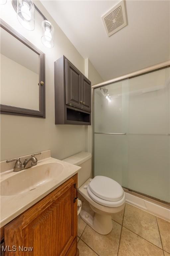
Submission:
[[[91,112],[91,82],[82,75],[82,109]]]

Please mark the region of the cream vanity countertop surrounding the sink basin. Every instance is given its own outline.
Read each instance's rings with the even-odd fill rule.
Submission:
[[[40,160],[36,166],[41,167],[41,165],[43,164],[54,163],[54,162],[59,162],[64,166],[64,170],[60,174],[58,174],[56,179],[51,179],[48,182],[36,187],[36,189],[33,189],[31,191],[25,191],[23,193],[8,195],[8,196],[1,195],[1,199],[0,199],[0,202],[1,202],[0,226],[1,227],[6,225],[8,222],[10,222],[14,218],[16,218],[18,215],[23,213],[25,210],[30,208],[32,205],[37,203],[39,200],[41,200],[43,197],[45,197],[55,188],[59,187],[66,180],[74,176],[78,172],[78,170],[81,169],[81,167],[79,166],[66,163],[52,157],[48,157],[46,159]],[[31,168],[35,168],[36,166],[33,166]],[[28,168],[26,170],[29,171],[29,169],[31,168]],[[19,172],[25,172],[26,170],[22,170]],[[1,182],[6,180],[9,177],[17,175],[19,172],[13,172],[13,170],[3,172],[1,174]],[[19,181],[18,181],[18,184],[16,184],[16,186],[19,186]],[[8,186],[6,189],[8,189]]]

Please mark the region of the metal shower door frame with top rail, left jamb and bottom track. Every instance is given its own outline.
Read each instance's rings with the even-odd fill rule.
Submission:
[[[123,76],[120,76],[120,77],[113,78],[111,80],[107,80],[107,81],[99,83],[99,84],[92,85],[92,104],[91,104],[91,106],[92,106],[92,113],[91,113],[92,114],[92,120],[91,120],[91,128],[92,128],[92,178],[94,178],[94,90],[96,88],[100,88],[100,87],[103,87],[103,86],[106,86],[106,85],[109,85],[109,84],[114,84],[114,83],[117,83],[119,81],[123,81],[125,79],[130,79],[130,78],[134,78],[134,77],[137,77],[137,76],[145,75],[145,74],[155,72],[155,71],[158,71],[158,70],[161,70],[161,69],[164,69],[164,68],[168,68],[168,67],[170,67],[170,60],[165,61],[165,62],[161,62],[161,63],[153,65],[153,66],[149,66],[147,68],[143,68],[143,69],[134,71],[132,73],[129,73],[129,74],[126,74],[126,75],[123,75]],[[165,201],[157,199],[155,197],[140,193],[138,191],[134,191],[134,190],[126,188],[126,187],[123,187],[123,188],[124,188],[126,193],[138,196],[142,199],[146,199],[146,200],[148,200],[152,203],[156,203],[156,204],[159,204],[160,206],[163,206],[163,207],[166,207],[166,208],[170,209],[170,203],[168,203],[168,202],[165,202]]]

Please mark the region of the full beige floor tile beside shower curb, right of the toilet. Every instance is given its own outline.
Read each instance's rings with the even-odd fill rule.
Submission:
[[[126,204],[123,226],[162,249],[156,217]]]

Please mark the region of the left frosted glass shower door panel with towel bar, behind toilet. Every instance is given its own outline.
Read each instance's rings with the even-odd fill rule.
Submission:
[[[94,175],[128,186],[128,80],[94,90]]]

